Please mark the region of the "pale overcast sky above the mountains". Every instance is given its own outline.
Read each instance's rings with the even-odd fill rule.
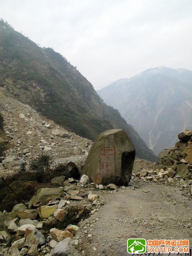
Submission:
[[[147,68],[192,70],[192,0],[0,0],[0,18],[95,90]]]

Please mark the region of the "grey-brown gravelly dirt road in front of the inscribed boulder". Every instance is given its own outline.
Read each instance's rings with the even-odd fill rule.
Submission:
[[[127,256],[128,238],[189,239],[192,246],[192,201],[172,186],[143,181],[131,185],[117,192],[99,191],[106,204],[79,223],[80,242],[72,246],[71,256]]]

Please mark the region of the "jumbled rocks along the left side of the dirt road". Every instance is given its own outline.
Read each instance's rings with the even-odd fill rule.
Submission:
[[[81,241],[76,236],[78,222],[104,205],[99,196],[103,189],[117,187],[89,183],[84,175],[80,181],[69,178],[61,187],[40,188],[26,205],[4,206],[0,211],[0,255],[70,254],[69,245]]]

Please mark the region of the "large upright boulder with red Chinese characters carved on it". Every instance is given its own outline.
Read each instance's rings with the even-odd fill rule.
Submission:
[[[81,175],[97,184],[127,186],[131,180],[135,148],[122,129],[106,130],[96,138]]]

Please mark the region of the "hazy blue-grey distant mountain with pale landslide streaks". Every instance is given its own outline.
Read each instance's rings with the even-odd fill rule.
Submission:
[[[154,153],[172,147],[177,134],[192,129],[192,71],[150,68],[97,91],[117,108]]]

